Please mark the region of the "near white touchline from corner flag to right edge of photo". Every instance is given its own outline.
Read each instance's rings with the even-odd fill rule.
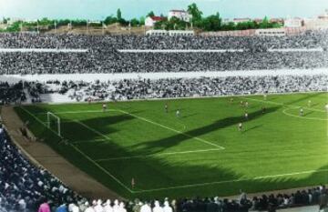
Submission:
[[[251,180],[276,178],[276,177],[297,176],[297,175],[313,174],[313,173],[321,173],[321,172],[328,172],[328,169],[309,170],[309,171],[302,171],[302,172],[292,172],[292,173],[286,173],[286,174],[252,177],[252,178],[231,179],[231,180],[223,180],[223,181],[200,183],[200,184],[189,184],[189,185],[182,185],[182,186],[177,186],[177,187],[160,187],[160,188],[154,188],[154,189],[132,191],[132,193],[146,193],[146,192],[154,192],[154,191],[171,190],[171,189],[177,189],[177,188],[204,187],[204,186],[220,185],[220,184],[226,184],[226,183],[236,183],[236,182],[242,182],[242,181],[251,181]]]

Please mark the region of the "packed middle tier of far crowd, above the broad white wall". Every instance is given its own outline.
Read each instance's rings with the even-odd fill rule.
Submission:
[[[0,53],[1,74],[89,74],[313,69],[328,52],[227,53]]]

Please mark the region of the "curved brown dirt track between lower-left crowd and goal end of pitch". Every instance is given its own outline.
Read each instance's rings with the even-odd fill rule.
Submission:
[[[22,120],[15,114],[12,106],[3,106],[1,117],[12,138],[28,159],[39,167],[45,167],[52,175],[59,178],[67,187],[83,197],[89,198],[120,198],[118,194],[97,182],[93,177],[82,172],[69,163],[63,156],[58,155],[51,147],[41,142],[29,142],[19,133],[23,126]],[[33,136],[33,135],[31,135]]]

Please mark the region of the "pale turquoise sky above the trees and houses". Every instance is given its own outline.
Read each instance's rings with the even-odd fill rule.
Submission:
[[[126,19],[167,15],[170,9],[186,9],[196,3],[204,15],[217,12],[234,17],[313,17],[328,9],[328,0],[0,0],[0,18],[80,18],[102,20],[116,15],[118,8]]]

